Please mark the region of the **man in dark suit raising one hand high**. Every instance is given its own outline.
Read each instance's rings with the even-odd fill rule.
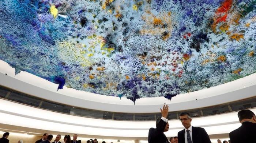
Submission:
[[[168,139],[166,138],[163,132],[169,130],[169,123],[167,115],[169,107],[168,105],[163,105],[163,109],[161,109],[162,117],[158,117],[156,121],[156,128],[150,128],[148,132],[148,143],[169,143]]]

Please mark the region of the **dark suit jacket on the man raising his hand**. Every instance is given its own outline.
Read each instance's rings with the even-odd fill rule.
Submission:
[[[166,122],[162,119],[156,128],[150,128],[148,132],[148,143],[169,143],[163,130],[165,130]]]

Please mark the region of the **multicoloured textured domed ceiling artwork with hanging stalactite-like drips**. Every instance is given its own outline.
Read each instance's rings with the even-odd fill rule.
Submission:
[[[135,102],[256,71],[256,0],[1,0],[0,59]],[[57,89],[56,89],[57,90]]]

